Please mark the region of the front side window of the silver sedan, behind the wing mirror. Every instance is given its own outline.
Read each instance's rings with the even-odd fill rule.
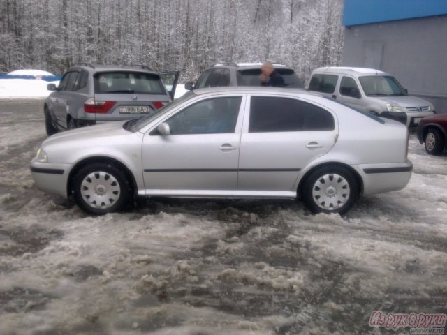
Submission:
[[[229,96],[194,103],[166,121],[170,135],[234,133],[241,101]]]

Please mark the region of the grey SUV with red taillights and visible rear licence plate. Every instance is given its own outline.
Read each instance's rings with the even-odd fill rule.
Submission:
[[[58,87],[47,85],[52,91],[44,105],[47,135],[153,114],[173,100],[178,75],[177,71],[154,73],[147,66],[75,65]]]

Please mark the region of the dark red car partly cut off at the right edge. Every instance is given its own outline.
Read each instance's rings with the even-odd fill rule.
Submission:
[[[416,127],[416,135],[429,154],[442,154],[447,146],[447,114],[424,117]]]

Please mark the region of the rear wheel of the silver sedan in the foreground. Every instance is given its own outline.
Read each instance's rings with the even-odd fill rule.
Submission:
[[[358,181],[347,168],[325,166],[309,174],[300,194],[314,214],[344,214],[358,200]]]

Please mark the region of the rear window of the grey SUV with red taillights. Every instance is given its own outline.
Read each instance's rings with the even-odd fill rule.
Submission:
[[[160,76],[138,72],[103,72],[94,75],[96,94],[167,94]]]

